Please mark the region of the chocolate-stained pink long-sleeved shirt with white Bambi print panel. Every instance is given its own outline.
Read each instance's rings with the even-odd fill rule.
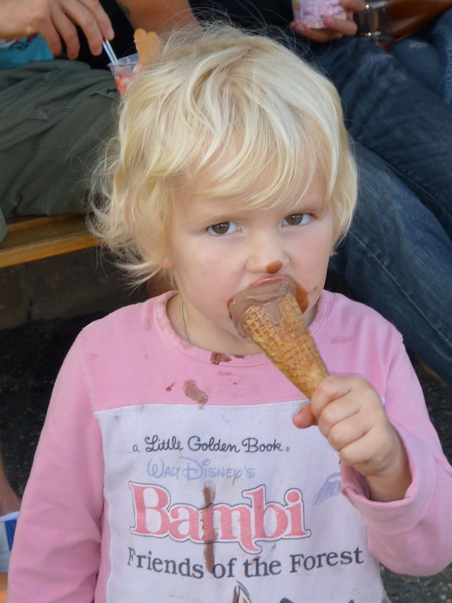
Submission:
[[[8,603],[381,603],[377,559],[428,575],[452,560],[452,469],[400,334],[322,292],[310,330],[330,373],[360,374],[413,481],[372,502],[262,355],[172,329],[165,294],[90,324],[67,355],[27,484]],[[344,496],[345,494],[345,496]]]

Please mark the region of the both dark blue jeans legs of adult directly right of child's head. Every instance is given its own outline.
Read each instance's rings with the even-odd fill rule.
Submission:
[[[331,268],[452,385],[452,110],[364,39],[313,46],[357,141],[359,208]]]

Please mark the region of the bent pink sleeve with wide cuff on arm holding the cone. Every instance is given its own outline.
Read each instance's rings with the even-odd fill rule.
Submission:
[[[412,484],[406,496],[369,500],[365,479],[350,467],[342,468],[342,491],[366,523],[369,550],[381,563],[397,573],[432,575],[452,561],[452,467],[401,340],[388,374],[385,408],[409,459]]]

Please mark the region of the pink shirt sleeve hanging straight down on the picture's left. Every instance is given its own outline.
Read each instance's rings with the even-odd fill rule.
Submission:
[[[55,382],[25,488],[8,573],[8,603],[90,603],[100,563],[101,435],[78,360]]]

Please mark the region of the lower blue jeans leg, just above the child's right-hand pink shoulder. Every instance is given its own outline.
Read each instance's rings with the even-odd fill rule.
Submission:
[[[452,241],[380,157],[357,144],[356,159],[359,202],[330,270],[452,386]]]

